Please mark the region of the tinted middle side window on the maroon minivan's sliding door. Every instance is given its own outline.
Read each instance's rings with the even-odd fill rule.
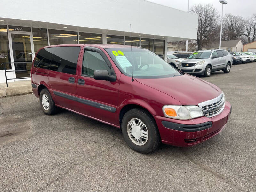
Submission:
[[[50,70],[76,74],[76,65],[81,47],[54,47]]]

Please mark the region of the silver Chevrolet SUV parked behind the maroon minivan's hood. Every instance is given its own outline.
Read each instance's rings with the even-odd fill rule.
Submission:
[[[209,77],[213,71],[229,73],[232,57],[224,49],[203,50],[192,53],[187,60],[178,66],[178,69],[191,75]]]

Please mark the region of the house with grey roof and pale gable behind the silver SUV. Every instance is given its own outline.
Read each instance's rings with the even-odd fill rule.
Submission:
[[[213,42],[209,46],[204,46],[202,50],[208,49],[219,49],[219,41]],[[227,51],[236,51],[242,52],[243,51],[243,44],[240,39],[238,40],[230,40],[230,41],[221,41],[221,49],[225,49]]]

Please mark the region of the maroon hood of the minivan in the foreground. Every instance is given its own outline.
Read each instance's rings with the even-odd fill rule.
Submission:
[[[216,98],[222,93],[216,85],[188,74],[158,79],[136,78],[136,81],[164,92],[182,105],[198,105],[198,103]],[[164,105],[168,104],[171,103]]]

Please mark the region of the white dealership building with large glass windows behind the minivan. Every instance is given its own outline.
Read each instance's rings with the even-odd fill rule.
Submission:
[[[145,0],[2,0],[0,82],[29,77],[38,49],[56,44],[141,46],[166,60],[167,42],[196,39],[198,16]],[[14,81],[14,80],[9,80]]]

